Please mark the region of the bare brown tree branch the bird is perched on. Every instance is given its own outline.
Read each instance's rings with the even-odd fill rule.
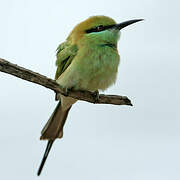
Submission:
[[[47,78],[39,73],[20,67],[16,64],[12,64],[4,59],[0,58],[0,71],[11,74],[18,78],[30,81],[32,83],[39,84],[48,89],[61,93],[65,96],[70,96],[75,99],[87,101],[96,104],[114,104],[114,105],[129,105],[132,106],[131,101],[126,96],[118,95],[104,95],[100,94],[97,98],[97,94],[89,91],[68,91],[66,92],[55,80]]]

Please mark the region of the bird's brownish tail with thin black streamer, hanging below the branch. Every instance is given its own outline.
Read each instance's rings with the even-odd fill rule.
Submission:
[[[41,131],[40,139],[48,140],[48,144],[47,144],[43,159],[41,161],[41,164],[37,173],[38,176],[41,174],[41,171],[46,162],[47,156],[53,145],[54,140],[56,138],[62,138],[63,136],[63,126],[66,122],[66,118],[67,118],[70,108],[64,110],[61,106],[61,102],[59,102],[53,114],[51,115],[48,122],[46,123],[46,125]]]

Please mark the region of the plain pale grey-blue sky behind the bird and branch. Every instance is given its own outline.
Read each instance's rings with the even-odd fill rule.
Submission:
[[[40,131],[54,93],[0,72],[0,179],[179,180],[180,25],[178,0],[0,1],[0,57],[54,78],[55,50],[92,15],[122,30],[118,79],[105,93],[133,107],[76,103],[40,177]]]

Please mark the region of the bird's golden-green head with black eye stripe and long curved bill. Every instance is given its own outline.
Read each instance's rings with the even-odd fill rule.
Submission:
[[[143,19],[135,19],[117,24],[107,16],[92,16],[76,25],[68,36],[73,44],[88,42],[95,44],[111,43],[116,45],[120,30]]]

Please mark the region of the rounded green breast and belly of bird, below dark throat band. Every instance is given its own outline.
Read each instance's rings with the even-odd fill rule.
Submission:
[[[76,85],[78,89],[105,90],[115,82],[120,57],[113,46],[99,45],[82,49],[76,60],[80,76]]]

